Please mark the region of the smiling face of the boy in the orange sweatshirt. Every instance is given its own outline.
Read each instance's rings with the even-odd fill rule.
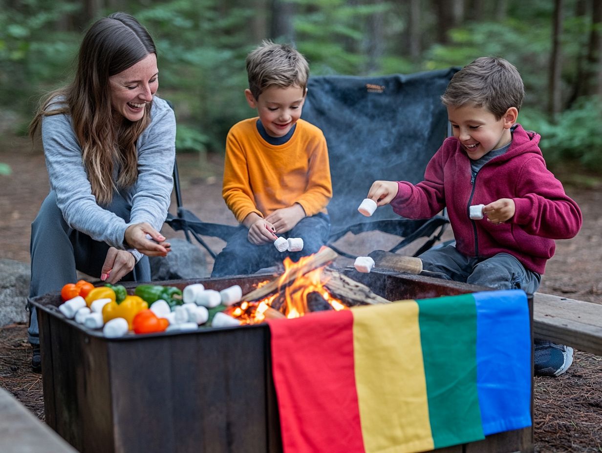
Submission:
[[[244,90],[247,102],[251,108],[256,108],[265,128],[271,137],[284,137],[301,116],[305,92],[303,88],[292,85],[291,87],[278,87],[273,85],[255,99],[250,90]]]

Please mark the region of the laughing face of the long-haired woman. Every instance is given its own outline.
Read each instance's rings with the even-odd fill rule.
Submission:
[[[148,54],[128,69],[111,76],[113,111],[134,122],[144,117],[144,106],[159,87],[157,55]]]

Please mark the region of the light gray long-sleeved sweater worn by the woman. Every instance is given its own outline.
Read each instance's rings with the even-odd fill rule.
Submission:
[[[138,179],[122,190],[132,205],[130,221],[125,221],[98,205],[82,164],[82,152],[73,133],[68,114],[42,119],[42,143],[51,190],[57,194],[57,205],[67,224],[96,241],[124,249],[126,228],[147,222],[159,231],[170,205],[173,188],[176,120],[166,101],[155,96],[151,123],[138,138]],[[116,177],[116,175],[114,175]],[[141,253],[129,250],[136,260]]]

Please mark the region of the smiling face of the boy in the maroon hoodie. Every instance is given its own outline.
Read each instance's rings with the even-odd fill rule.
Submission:
[[[489,151],[510,143],[510,128],[517,120],[518,110],[510,107],[498,120],[484,107],[448,106],[447,116],[453,136],[458,138],[468,157],[476,161]]]

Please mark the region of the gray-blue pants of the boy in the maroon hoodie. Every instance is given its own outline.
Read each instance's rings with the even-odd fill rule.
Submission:
[[[490,258],[467,257],[453,245],[425,251],[420,259],[423,269],[438,273],[438,277],[455,282],[471,283],[495,289],[523,289],[533,294],[539,288],[541,276],[526,269],[508,253]]]

